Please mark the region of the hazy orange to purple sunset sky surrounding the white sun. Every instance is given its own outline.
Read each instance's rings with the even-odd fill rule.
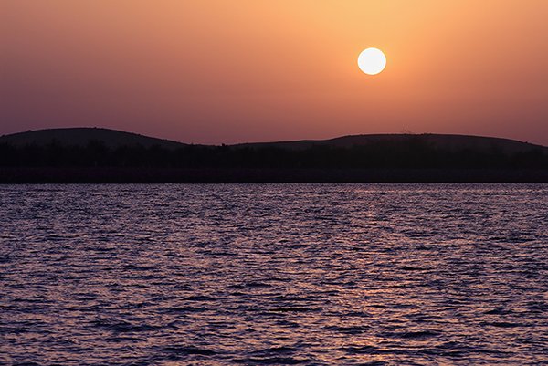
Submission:
[[[546,0],[0,0],[0,135],[548,145]],[[387,66],[367,76],[367,47]]]

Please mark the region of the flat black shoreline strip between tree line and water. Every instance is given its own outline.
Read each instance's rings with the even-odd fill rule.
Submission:
[[[548,183],[548,170],[0,167],[0,183]]]

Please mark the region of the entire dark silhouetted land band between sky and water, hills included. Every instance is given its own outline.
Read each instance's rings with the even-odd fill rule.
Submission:
[[[386,134],[189,145],[105,129],[0,138],[0,183],[548,182],[548,148]]]

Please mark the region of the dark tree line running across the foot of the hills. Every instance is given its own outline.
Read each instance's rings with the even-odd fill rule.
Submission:
[[[176,150],[160,146],[109,148],[100,141],[86,146],[0,144],[4,167],[154,167],[154,168],[490,168],[548,169],[548,154],[540,149],[504,153],[497,149],[438,149],[425,141],[381,141],[349,148],[314,145],[304,150],[279,147],[186,145]]]

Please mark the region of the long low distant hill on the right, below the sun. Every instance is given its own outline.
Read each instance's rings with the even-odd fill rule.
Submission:
[[[312,146],[331,146],[337,148],[352,148],[355,146],[373,144],[397,144],[409,141],[419,141],[427,145],[451,152],[470,150],[474,152],[530,152],[542,150],[548,152],[548,147],[535,145],[528,142],[521,142],[495,137],[469,136],[469,135],[448,135],[448,134],[371,134],[342,136],[330,140],[303,140],[303,141],[279,141],[279,142],[258,142],[243,143],[237,146],[250,148],[281,148],[288,150],[306,150]]]

